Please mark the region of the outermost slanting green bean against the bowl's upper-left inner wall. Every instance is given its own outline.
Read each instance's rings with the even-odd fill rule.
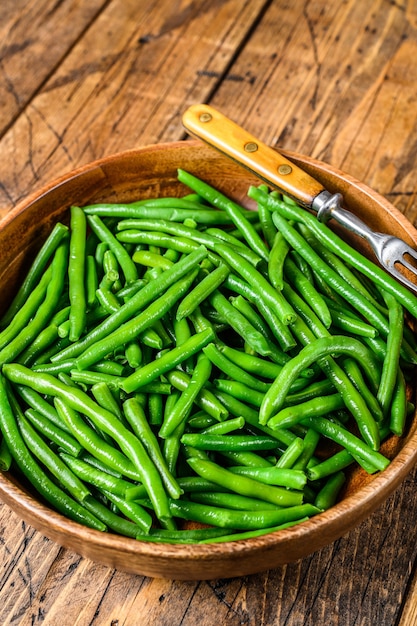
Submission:
[[[0,327],[4,328],[12,322],[12,319],[19,315],[19,312],[24,307],[24,303],[35,289],[38,281],[42,280],[42,275],[45,273],[45,268],[49,260],[55,254],[56,249],[60,246],[63,239],[68,237],[68,226],[58,222],[51,230],[50,235],[43,243],[41,249],[37,253],[35,259],[26,274],[25,279],[20,285],[17,294],[15,295],[12,303],[3,315],[0,323]]]

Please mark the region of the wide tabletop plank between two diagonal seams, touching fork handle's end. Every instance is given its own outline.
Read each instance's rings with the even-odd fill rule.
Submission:
[[[0,215],[78,165],[181,138],[264,5],[113,0],[0,141]]]

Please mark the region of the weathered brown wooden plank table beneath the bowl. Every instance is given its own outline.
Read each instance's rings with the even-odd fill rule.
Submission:
[[[185,138],[213,104],[417,219],[417,5],[407,0],[2,0],[0,214],[113,152]],[[415,475],[310,558],[172,582],[80,558],[2,506],[2,624],[409,626]]]

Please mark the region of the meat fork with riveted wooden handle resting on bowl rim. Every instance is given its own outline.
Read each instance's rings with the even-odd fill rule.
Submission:
[[[405,241],[373,231],[342,206],[342,195],[331,193],[307,172],[273,148],[252,137],[223,114],[204,104],[191,106],[183,115],[184,127],[206,143],[272,183],[303,206],[317,213],[319,221],[335,219],[346,229],[365,239],[382,267],[406,287],[417,292],[417,284],[399,269],[417,276],[417,252]],[[409,260],[414,260],[413,265]]]

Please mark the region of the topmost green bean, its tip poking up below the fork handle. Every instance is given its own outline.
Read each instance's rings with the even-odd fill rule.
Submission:
[[[199,180],[189,172],[179,169],[178,180],[193,189],[211,205],[225,211],[245,238],[249,247],[259,254],[259,256],[265,261],[268,260],[268,249],[251,223],[246,219],[242,213],[241,207],[238,204],[221,194],[207,183]]]

